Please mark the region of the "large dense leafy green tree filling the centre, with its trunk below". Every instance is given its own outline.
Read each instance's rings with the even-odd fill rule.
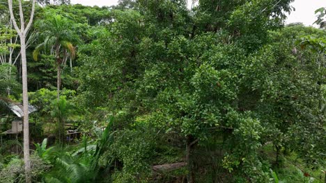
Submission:
[[[297,63],[309,55],[295,55],[300,33],[277,37],[290,2],[200,1],[189,14],[184,1],[139,1],[115,10],[107,31],[81,49],[79,102],[182,134],[189,182],[196,146],[215,139],[224,168],[267,181],[258,150],[270,142],[277,153],[293,149],[295,126],[313,123],[305,115],[315,114],[317,99],[308,96],[322,76]]]

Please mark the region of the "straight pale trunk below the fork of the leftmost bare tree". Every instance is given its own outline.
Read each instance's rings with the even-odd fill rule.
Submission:
[[[24,110],[24,162],[26,182],[31,182],[31,161],[29,158],[29,96],[27,90],[27,64],[26,64],[26,44],[25,35],[20,37],[20,47],[22,55],[22,98]]]

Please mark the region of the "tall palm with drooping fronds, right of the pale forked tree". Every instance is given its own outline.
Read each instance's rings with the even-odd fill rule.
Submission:
[[[57,98],[60,100],[61,87],[61,65],[65,64],[68,58],[75,58],[76,49],[73,42],[78,42],[77,36],[72,31],[73,22],[61,15],[48,15],[47,19],[36,22],[40,37],[44,41],[36,46],[33,51],[34,60],[43,49],[54,54],[57,64]]]

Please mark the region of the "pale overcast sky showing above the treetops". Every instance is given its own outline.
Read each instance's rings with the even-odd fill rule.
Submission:
[[[72,3],[81,3],[85,6],[112,6],[118,0],[71,0]],[[302,22],[310,26],[316,21],[315,10],[326,7],[326,0],[295,0],[292,3],[295,11],[288,16],[286,23]]]

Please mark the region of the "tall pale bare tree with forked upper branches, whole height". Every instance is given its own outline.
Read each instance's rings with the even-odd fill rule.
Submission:
[[[12,21],[15,30],[20,35],[20,53],[22,58],[22,88],[23,88],[23,112],[24,112],[24,163],[26,183],[31,183],[31,161],[29,157],[29,98],[27,90],[27,61],[26,61],[26,35],[31,28],[33,22],[35,1],[32,1],[31,17],[25,28],[24,12],[22,8],[22,0],[18,0],[20,5],[20,28],[17,26],[16,19],[13,14],[13,0],[8,0],[8,8],[10,12],[10,21]]]

